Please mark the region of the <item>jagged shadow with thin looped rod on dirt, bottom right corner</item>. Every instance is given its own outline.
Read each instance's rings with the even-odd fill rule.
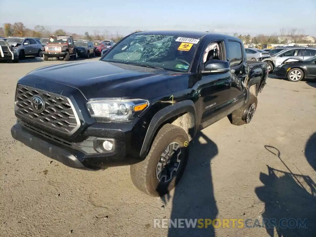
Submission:
[[[265,148],[276,155],[288,170],[268,166],[268,174],[260,173],[264,186],[257,187],[255,192],[265,203],[262,217],[267,233],[271,237],[314,237],[316,184],[307,175],[294,174],[281,159],[278,149],[271,146]],[[277,235],[274,235],[275,231]]]

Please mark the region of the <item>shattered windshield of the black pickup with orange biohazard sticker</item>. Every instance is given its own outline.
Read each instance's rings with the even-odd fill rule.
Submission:
[[[130,35],[102,61],[188,72],[198,41],[175,35]]]

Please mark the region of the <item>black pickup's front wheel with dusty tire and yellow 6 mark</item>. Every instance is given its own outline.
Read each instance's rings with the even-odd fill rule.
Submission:
[[[171,191],[184,173],[189,156],[188,135],[175,125],[164,125],[145,160],[131,165],[133,184],[142,192],[161,197]]]

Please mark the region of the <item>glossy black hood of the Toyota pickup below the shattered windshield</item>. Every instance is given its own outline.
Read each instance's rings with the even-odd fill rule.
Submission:
[[[135,96],[153,99],[188,88],[188,74],[100,60],[44,66],[25,76],[25,80],[32,81],[26,77],[77,88],[87,100],[105,97],[131,99]],[[21,80],[23,83],[23,78]],[[184,88],[180,88],[182,85]]]

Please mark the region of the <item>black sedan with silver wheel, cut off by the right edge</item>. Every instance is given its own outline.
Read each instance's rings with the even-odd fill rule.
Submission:
[[[306,60],[288,58],[283,64],[275,68],[273,74],[287,77],[291,82],[299,82],[303,78],[316,79],[316,56]]]

